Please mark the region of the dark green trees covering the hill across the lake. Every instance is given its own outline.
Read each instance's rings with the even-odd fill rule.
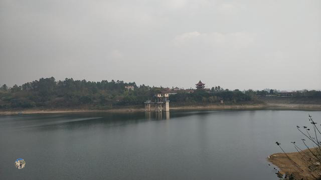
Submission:
[[[126,89],[127,85],[132,85],[134,90]],[[155,93],[160,93],[163,90],[163,87],[150,87],[144,84],[137,86],[135,82],[121,80],[94,82],[74,80],[73,78],[58,81],[54,77],[40,78],[13,87],[3,84],[0,87],[0,108],[112,108],[114,106],[143,104],[147,99],[153,99]],[[216,86],[209,91],[195,90],[191,93],[179,91],[177,94],[171,95],[170,100],[174,104],[220,103],[221,100],[224,100],[225,103],[244,103],[255,101],[258,95],[271,93],[275,92],[254,91],[252,89],[229,90]],[[305,91],[304,96],[321,97],[321,91]]]

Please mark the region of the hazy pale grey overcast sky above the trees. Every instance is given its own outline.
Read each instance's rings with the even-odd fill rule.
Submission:
[[[0,84],[321,89],[321,0],[0,0]]]

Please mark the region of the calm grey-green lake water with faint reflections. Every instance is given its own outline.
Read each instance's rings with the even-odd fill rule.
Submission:
[[[0,179],[278,179],[266,157],[275,141],[295,150],[308,114],[321,122],[292,110],[0,116]]]

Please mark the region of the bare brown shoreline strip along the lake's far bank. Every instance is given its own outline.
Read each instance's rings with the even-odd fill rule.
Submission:
[[[207,104],[207,105],[180,105],[170,107],[171,110],[321,110],[321,104],[294,104],[294,103],[261,103],[261,104]],[[32,108],[0,110],[0,115],[40,114],[40,113],[72,113],[72,112],[142,112],[141,107],[119,107],[111,109],[86,108]],[[153,110],[151,110],[153,111]]]

